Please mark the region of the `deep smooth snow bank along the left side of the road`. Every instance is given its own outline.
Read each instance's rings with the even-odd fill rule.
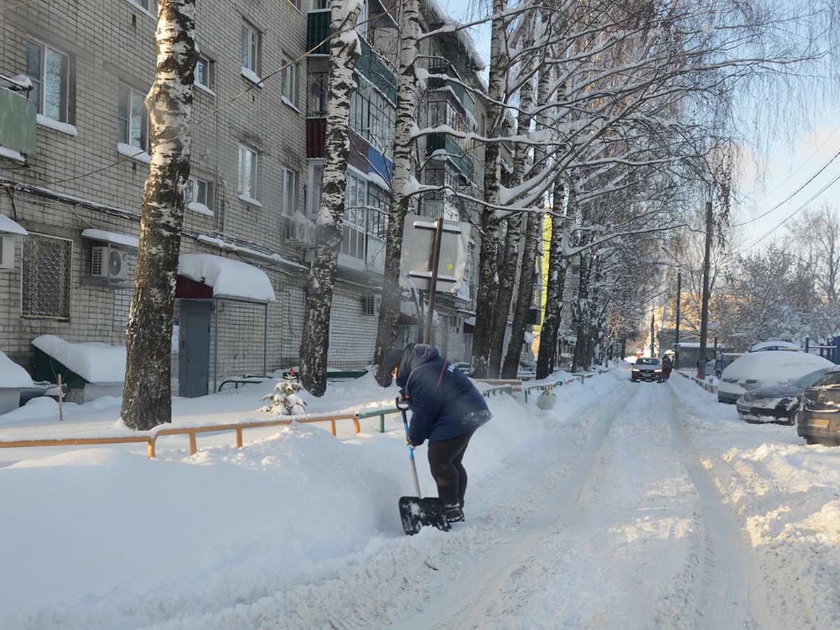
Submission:
[[[174,424],[266,419],[257,410],[274,383],[178,399]],[[306,396],[307,411],[389,407],[396,394],[367,376]],[[124,433],[110,402],[71,407],[60,424],[24,407],[0,416],[0,437]],[[543,423],[536,406],[531,415],[510,396],[489,402],[496,420],[465,460],[475,476]],[[350,423],[339,423],[338,439],[328,428],[254,430],[244,449],[232,433],[202,435],[192,457],[186,440],[160,440],[151,460],[142,445],[0,450],[0,627],[139,627],[200,615],[217,601],[288,590],[301,572],[319,562],[334,570],[328,559],[371,541],[403,538],[397,500],[414,491],[402,418],[387,417],[386,433],[378,417],[357,436]],[[418,449],[421,489],[435,495],[424,457]]]

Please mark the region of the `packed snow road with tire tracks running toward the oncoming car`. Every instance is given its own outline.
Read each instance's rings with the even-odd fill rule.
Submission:
[[[371,541],[340,575],[246,616],[261,627],[801,627],[756,579],[673,385],[618,381],[475,481],[451,533]]]

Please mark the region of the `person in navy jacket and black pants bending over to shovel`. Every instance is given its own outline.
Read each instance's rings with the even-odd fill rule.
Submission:
[[[428,465],[449,522],[464,520],[467,471],[463,459],[475,429],[491,418],[484,396],[438,349],[409,344],[382,361],[412,409],[408,444],[428,440]]]

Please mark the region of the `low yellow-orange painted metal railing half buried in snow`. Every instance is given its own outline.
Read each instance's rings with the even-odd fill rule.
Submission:
[[[233,424],[213,424],[206,427],[173,427],[163,428],[156,431],[154,434],[144,435],[126,435],[117,438],[55,438],[55,439],[20,439],[3,441],[0,440],[0,449],[18,449],[33,446],[84,446],[92,444],[138,444],[145,443],[146,451],[149,458],[155,457],[155,443],[157,439],[165,435],[187,435],[190,438],[190,454],[194,455],[197,452],[196,438],[198,433],[220,433],[223,431],[233,431],[236,433],[236,445],[242,448],[242,433],[246,428],[265,428],[265,427],[280,427],[295,423],[329,423],[330,433],[335,435],[335,423],[339,420],[353,421],[355,433],[360,432],[359,417],[355,413],[343,413],[339,415],[330,416],[307,416],[295,417],[286,420],[265,420],[254,423],[233,423]]]

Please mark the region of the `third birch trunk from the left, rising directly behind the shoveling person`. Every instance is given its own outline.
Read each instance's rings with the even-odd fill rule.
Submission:
[[[396,81],[396,126],[394,129],[394,165],[391,176],[391,207],[388,211],[385,270],[382,276],[382,302],[376,329],[373,365],[381,386],[391,384],[391,375],[382,373],[382,360],[396,346],[397,323],[400,318],[400,255],[402,230],[406,223],[409,197],[406,194],[412,175],[412,129],[417,108],[417,38],[420,30],[420,3],[407,0],[400,13],[400,60]]]

